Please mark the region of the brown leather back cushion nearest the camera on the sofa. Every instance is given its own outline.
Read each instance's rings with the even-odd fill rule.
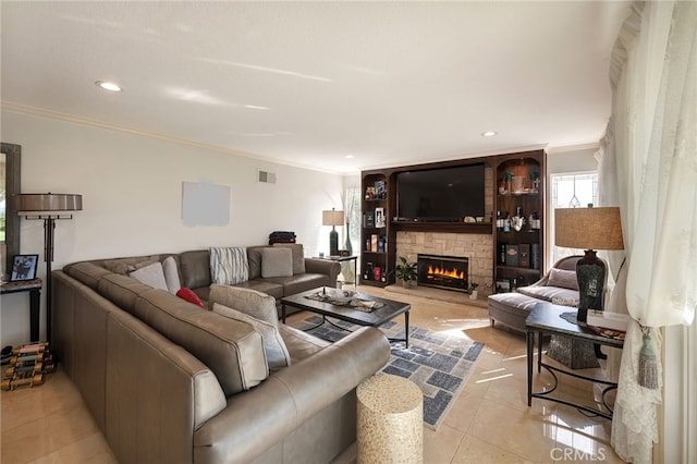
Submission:
[[[135,316],[208,366],[225,396],[249,390],[269,375],[261,334],[246,322],[155,289],[136,301]]]

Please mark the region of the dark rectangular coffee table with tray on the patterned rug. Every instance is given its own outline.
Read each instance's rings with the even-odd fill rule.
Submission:
[[[379,298],[377,296],[366,295],[363,293],[354,293],[354,297],[364,301],[381,303],[382,306],[371,312],[364,312],[352,306],[338,306],[331,303],[320,302],[308,298],[307,296],[321,293],[323,288],[309,290],[307,292],[297,293],[281,298],[281,321],[285,323],[285,306],[292,306],[298,309],[308,310],[310,313],[320,314],[322,322],[328,321],[327,317],[332,317],[346,322],[358,326],[379,327],[384,322],[394,319],[396,316],[404,315],[404,339],[390,339],[390,341],[403,341],[405,347],[409,347],[409,310],[412,305],[392,300]],[[337,289],[327,288],[327,290],[335,291]],[[331,321],[328,321],[331,323]],[[345,329],[343,329],[345,330]]]

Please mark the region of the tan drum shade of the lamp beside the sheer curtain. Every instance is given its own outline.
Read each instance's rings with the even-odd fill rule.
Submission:
[[[554,244],[579,249],[624,249],[620,208],[555,209]]]

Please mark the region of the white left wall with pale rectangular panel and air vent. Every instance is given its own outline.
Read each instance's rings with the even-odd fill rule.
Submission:
[[[321,210],[340,209],[343,179],[170,141],[2,111],[2,142],[22,146],[22,192],[78,193],[83,211],[57,221],[53,269],[82,259],[259,245],[295,231],[306,256],[329,249]],[[257,183],[257,169],[276,184]],[[182,182],[231,187],[227,227],[182,222]],[[22,219],[21,249],[44,259],[41,221]],[[45,278],[45,264],[38,277]],[[42,294],[42,300],[44,300]],[[45,338],[41,302],[40,333]],[[28,341],[28,296],[4,295],[0,343]]]

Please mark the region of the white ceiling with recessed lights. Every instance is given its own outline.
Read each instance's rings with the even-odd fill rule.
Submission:
[[[355,173],[597,143],[610,115],[610,52],[629,3],[1,9],[7,109]]]

